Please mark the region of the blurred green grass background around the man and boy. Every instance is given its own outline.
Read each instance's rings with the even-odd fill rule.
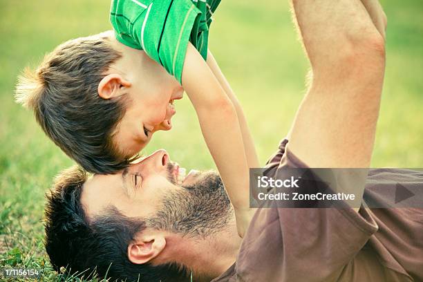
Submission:
[[[387,66],[373,167],[423,167],[423,2],[384,0]],[[73,164],[15,104],[16,77],[62,41],[110,29],[109,1],[0,0],[0,267],[46,267],[44,193]],[[308,61],[288,1],[223,1],[209,46],[232,84],[264,163],[288,132],[305,92]],[[173,129],[155,134],[145,153],[165,148],[182,166],[214,167],[187,98]],[[223,137],[224,138],[224,137]],[[318,136],[316,137],[318,138]]]

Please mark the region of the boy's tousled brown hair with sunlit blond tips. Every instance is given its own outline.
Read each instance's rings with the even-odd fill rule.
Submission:
[[[121,57],[107,37],[66,41],[46,55],[35,72],[19,77],[17,102],[34,111],[48,137],[92,173],[113,173],[131,160],[120,156],[112,133],[125,113],[126,95],[102,99],[97,87]]]

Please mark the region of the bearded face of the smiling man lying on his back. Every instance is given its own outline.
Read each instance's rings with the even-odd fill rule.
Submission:
[[[232,208],[217,173],[185,169],[160,150],[110,175],[95,175],[84,184],[86,214],[104,214],[114,205],[122,214],[144,218],[150,227],[203,236],[229,222]]]

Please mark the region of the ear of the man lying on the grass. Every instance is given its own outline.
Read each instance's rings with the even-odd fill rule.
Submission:
[[[128,259],[131,263],[148,263],[164,250],[166,239],[161,234],[139,236],[128,246]]]

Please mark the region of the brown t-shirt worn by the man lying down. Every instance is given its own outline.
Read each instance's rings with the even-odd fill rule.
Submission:
[[[267,176],[307,167],[287,144]],[[392,169],[370,170],[366,187],[390,179],[423,188],[423,173]],[[221,281],[423,281],[423,209],[258,209],[236,263],[213,280]]]

